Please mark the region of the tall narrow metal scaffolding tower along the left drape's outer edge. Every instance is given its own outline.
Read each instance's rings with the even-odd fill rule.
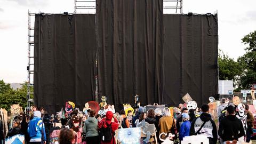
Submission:
[[[33,23],[31,23],[33,21]],[[34,30],[35,30],[35,13],[30,13],[28,10],[28,77],[27,77],[27,108],[25,108],[26,113],[29,113],[30,102],[34,100],[31,96],[34,96]]]

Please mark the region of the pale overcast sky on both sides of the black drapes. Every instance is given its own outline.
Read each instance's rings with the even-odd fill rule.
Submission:
[[[241,38],[256,30],[255,0],[183,0],[183,13],[218,10],[219,48],[237,59],[245,53]],[[0,79],[27,81],[28,10],[74,12],[74,0],[0,0]]]

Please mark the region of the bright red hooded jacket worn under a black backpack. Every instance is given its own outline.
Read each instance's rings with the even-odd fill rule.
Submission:
[[[99,122],[98,126],[99,129],[103,126],[103,127],[107,127],[106,123],[110,124],[111,120],[113,118],[113,113],[112,111],[107,111],[106,113],[106,118],[102,118],[101,121]],[[118,129],[119,123],[117,121],[116,118],[114,118],[114,122],[111,123],[111,128],[112,128],[112,132],[115,132]],[[101,144],[115,144],[115,137],[112,138],[112,140],[110,142],[100,142]]]

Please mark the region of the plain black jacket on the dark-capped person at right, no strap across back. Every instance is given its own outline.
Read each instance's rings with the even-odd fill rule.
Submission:
[[[218,134],[223,141],[238,140],[245,135],[243,123],[235,115],[228,115],[220,122]]]

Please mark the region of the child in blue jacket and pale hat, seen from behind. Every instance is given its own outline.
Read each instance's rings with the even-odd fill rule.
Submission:
[[[179,136],[180,141],[182,141],[185,136],[189,136],[191,122],[188,121],[188,119],[189,119],[189,115],[187,113],[183,113],[182,114],[183,123],[180,126],[180,136]]]

